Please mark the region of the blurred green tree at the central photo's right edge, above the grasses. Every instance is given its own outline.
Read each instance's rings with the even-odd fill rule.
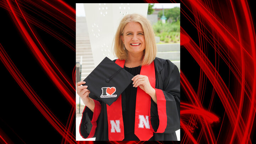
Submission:
[[[174,7],[169,10],[164,10],[164,15],[167,18],[167,20],[171,18],[172,21],[180,21],[180,7]],[[162,17],[162,10],[159,11],[158,17]]]

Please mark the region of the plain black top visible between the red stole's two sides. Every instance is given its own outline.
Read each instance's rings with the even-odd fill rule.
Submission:
[[[127,68],[124,66],[124,69],[135,76],[140,74],[141,66],[134,68]],[[134,134],[137,87],[133,87],[132,83],[133,82],[131,82],[122,93],[124,140],[139,140],[139,138]]]

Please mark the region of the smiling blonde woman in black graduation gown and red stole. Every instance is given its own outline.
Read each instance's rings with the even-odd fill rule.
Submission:
[[[156,58],[150,22],[142,15],[126,15],[114,42],[114,60],[132,75],[121,100],[111,106],[89,97],[85,82],[77,93],[86,105],[80,134],[96,140],[177,140],[180,129],[180,73],[170,60]],[[113,112],[115,110],[121,112]],[[118,119],[117,119],[118,117]]]

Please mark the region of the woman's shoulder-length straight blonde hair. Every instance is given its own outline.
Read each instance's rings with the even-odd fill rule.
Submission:
[[[155,34],[149,20],[139,14],[126,15],[121,20],[114,37],[114,54],[120,60],[127,60],[128,58],[128,53],[124,48],[121,36],[123,35],[124,27],[129,22],[138,22],[142,26],[145,37],[145,50],[141,65],[149,65],[156,57],[157,48],[155,42]]]

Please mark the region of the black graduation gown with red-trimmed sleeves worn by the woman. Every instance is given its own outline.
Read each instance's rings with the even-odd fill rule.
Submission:
[[[153,137],[149,140],[177,140],[175,131],[180,129],[180,72],[177,66],[170,60],[155,58],[154,65],[156,76],[155,89],[161,90],[164,94],[166,112],[162,113],[159,111],[158,106],[151,99],[150,121],[155,132],[160,125],[159,116],[166,114],[167,122],[164,133],[154,133]],[[156,91],[156,95],[159,95],[159,92]],[[95,99],[95,113],[85,107],[79,128],[80,134],[83,138],[96,137],[96,140],[108,141],[106,103],[96,96],[90,97]],[[97,111],[97,109],[100,111]]]

